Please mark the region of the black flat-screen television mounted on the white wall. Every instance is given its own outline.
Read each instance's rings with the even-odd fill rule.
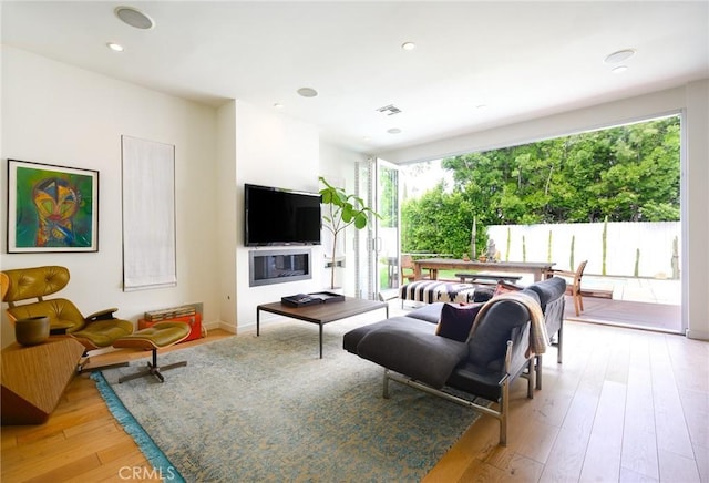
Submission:
[[[320,194],[244,185],[246,246],[320,245]]]

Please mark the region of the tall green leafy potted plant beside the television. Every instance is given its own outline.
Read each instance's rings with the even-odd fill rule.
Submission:
[[[337,253],[338,236],[348,226],[354,226],[357,229],[367,227],[370,216],[381,217],[366,206],[361,197],[345,193],[345,189],[332,186],[322,176],[319,177],[319,181],[325,185],[320,189],[321,202],[326,205],[322,214],[322,227],[332,234],[330,288],[335,288],[335,254]]]

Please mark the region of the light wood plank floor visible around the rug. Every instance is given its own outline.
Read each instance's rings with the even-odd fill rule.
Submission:
[[[567,322],[564,363],[549,349],[544,371],[534,399],[513,387],[506,448],[481,417],[424,481],[709,481],[708,342]],[[1,464],[3,483],[160,480],[85,376],[45,424],[2,428]]]

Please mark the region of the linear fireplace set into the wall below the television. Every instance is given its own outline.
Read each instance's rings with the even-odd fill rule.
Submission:
[[[305,250],[249,250],[248,285],[285,284],[312,278],[311,253]]]

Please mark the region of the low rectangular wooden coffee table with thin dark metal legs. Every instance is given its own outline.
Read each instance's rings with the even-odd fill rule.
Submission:
[[[341,301],[305,307],[291,307],[279,301],[261,304],[256,307],[256,336],[258,337],[260,335],[261,310],[305,322],[317,323],[320,327],[320,359],[322,359],[322,326],[378,309],[386,309],[387,318],[389,318],[389,305],[387,305],[387,302],[353,297],[345,297],[345,300]]]

